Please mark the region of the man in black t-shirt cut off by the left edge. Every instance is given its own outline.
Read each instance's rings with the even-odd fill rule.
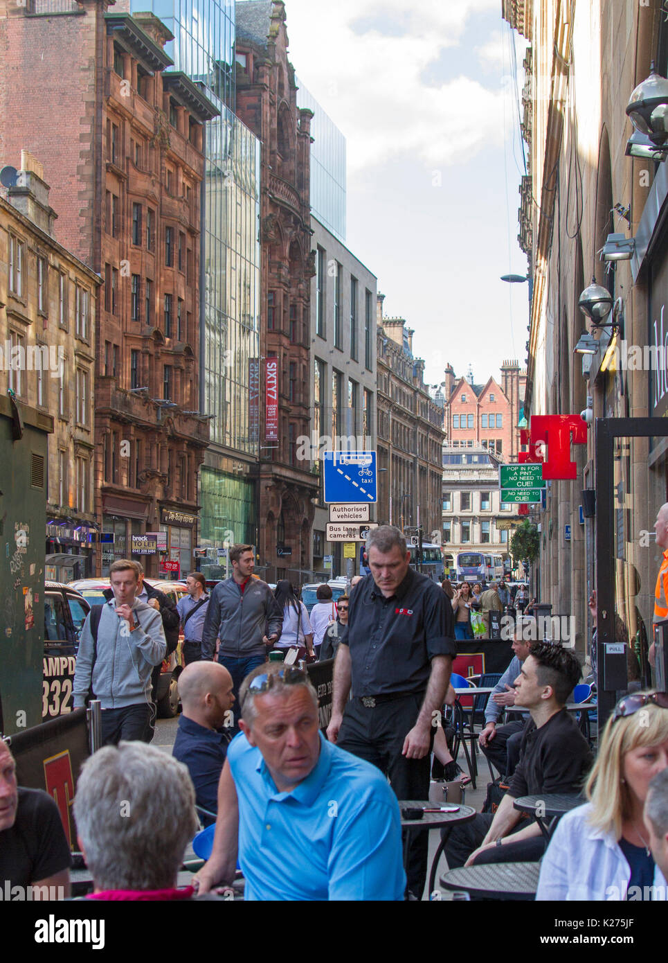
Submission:
[[[69,897],[70,853],[58,806],[38,789],[16,785],[16,766],[0,740],[0,892],[2,898]],[[22,894],[12,893],[21,887]],[[43,889],[48,887],[48,889]],[[59,889],[60,888],[60,889]]]

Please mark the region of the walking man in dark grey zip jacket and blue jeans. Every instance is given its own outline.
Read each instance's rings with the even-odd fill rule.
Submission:
[[[283,612],[270,586],[253,577],[252,545],[233,545],[230,561],[232,577],[218,582],[211,593],[202,629],[202,659],[213,660],[219,637],[218,662],[232,676],[238,706],[244,678],[266,662],[269,648],[280,638]]]

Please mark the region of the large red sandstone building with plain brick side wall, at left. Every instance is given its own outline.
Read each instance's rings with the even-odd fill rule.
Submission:
[[[166,551],[141,560],[177,576],[194,567],[209,436],[198,413],[200,184],[203,123],[218,112],[184,74],[164,72],[171,34],[157,17],[106,6],[0,0],[0,167],[21,148],[39,157],[57,240],[104,282],[90,347],[93,487],[114,541],[97,570],[136,554],[133,536],[161,531]]]

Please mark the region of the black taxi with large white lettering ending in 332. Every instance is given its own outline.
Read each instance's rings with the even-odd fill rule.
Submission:
[[[42,722],[72,711],[74,668],[79,637],[90,603],[62,582],[44,583],[44,660]]]

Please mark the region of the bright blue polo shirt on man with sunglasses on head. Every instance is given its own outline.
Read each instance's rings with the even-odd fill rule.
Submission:
[[[239,797],[245,899],[403,899],[396,795],[380,769],[320,734],[312,772],[279,793],[240,733],[227,750]]]

